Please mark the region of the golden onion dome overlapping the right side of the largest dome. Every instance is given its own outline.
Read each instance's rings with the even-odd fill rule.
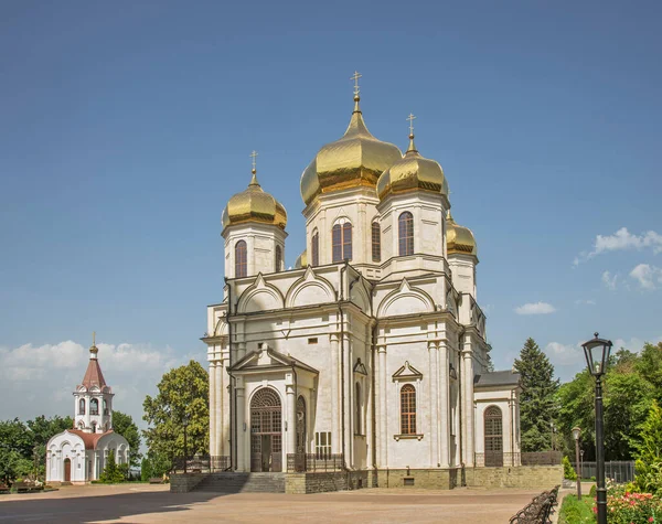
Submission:
[[[377,181],[377,195],[384,200],[389,194],[426,190],[448,197],[448,182],[439,162],[421,157],[409,135],[405,156],[382,173]]]

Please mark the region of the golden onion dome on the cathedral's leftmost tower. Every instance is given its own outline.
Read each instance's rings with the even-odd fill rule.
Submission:
[[[280,202],[269,193],[265,193],[257,181],[255,169],[248,188],[233,195],[223,210],[223,228],[243,224],[245,222],[259,222],[285,229],[287,212]]]

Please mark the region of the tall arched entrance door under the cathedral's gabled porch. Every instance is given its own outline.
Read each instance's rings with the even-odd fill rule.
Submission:
[[[258,389],[250,400],[250,471],[282,471],[281,420],[278,394]]]

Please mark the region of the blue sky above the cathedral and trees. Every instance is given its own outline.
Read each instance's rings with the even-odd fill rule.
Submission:
[[[479,243],[498,367],[527,336],[563,378],[596,330],[631,349],[660,340],[661,11],[3,2],[0,393],[20,399],[0,418],[68,413],[93,330],[138,417],[168,366],[204,361],[221,212],[250,151],[288,210],[293,265],[299,179],[344,131],[354,69],[373,135],[405,148],[412,111],[418,149],[444,167]],[[35,404],[35,381],[60,394]]]

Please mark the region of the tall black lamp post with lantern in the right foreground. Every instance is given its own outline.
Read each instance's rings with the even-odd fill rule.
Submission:
[[[607,489],[605,488],[605,428],[602,426],[602,375],[609,363],[611,341],[598,338],[581,344],[589,373],[596,379],[596,481],[598,524],[607,524]]]

